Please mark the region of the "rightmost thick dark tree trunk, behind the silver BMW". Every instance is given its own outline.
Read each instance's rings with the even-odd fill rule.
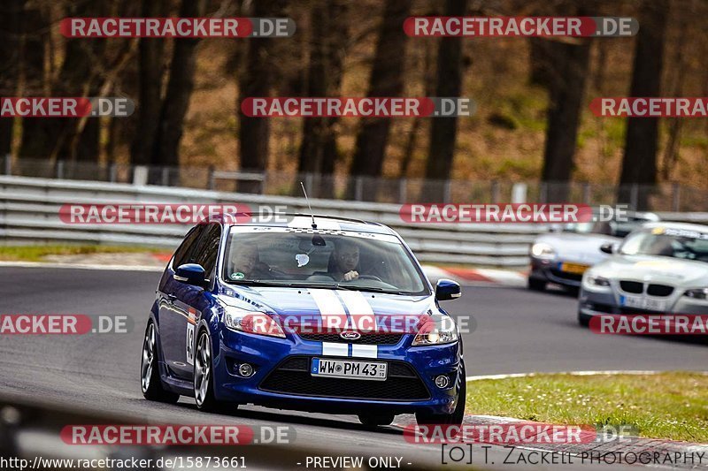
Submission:
[[[644,0],[642,4],[630,96],[660,95],[668,11],[668,0]],[[658,118],[627,118],[618,202],[633,203],[635,209],[647,208],[649,187],[657,183],[657,149]]]

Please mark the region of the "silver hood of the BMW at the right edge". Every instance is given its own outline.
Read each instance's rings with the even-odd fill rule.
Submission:
[[[612,255],[591,270],[593,275],[673,286],[708,286],[708,263],[650,255]]]

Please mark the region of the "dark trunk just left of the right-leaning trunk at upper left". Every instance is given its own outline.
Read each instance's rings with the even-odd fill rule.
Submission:
[[[142,0],[141,13],[143,18],[163,16],[164,0]],[[130,157],[135,165],[150,165],[155,163],[153,150],[158,137],[158,122],[162,108],[165,40],[141,38],[139,49],[140,91],[136,110],[137,129],[130,148]]]

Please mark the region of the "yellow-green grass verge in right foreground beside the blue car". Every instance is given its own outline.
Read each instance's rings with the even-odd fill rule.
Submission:
[[[708,375],[539,374],[473,381],[467,414],[564,425],[630,425],[640,437],[708,443]]]

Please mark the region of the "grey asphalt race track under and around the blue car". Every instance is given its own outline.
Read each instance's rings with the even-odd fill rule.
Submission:
[[[158,273],[150,271],[0,268],[0,313],[128,315],[128,334],[4,336],[0,341],[0,394],[87,411],[111,412],[143,422],[204,423],[193,399],[176,406],[142,398],[138,382],[142,334]],[[704,370],[708,346],[685,340],[596,335],[575,320],[576,300],[561,291],[464,286],[461,300],[447,301],[453,315],[473,315],[465,335],[469,376],[571,370]],[[473,386],[473,384],[471,384]],[[473,394],[473,387],[468,394]],[[408,444],[400,430],[372,431],[356,417],[241,407],[210,415],[209,422],[288,424],[296,442],[323,455],[402,456],[403,466],[439,467],[439,445]],[[503,449],[490,453],[499,468]],[[478,467],[492,467],[473,456]],[[298,467],[293,463],[293,468]],[[514,466],[520,469],[519,466]],[[543,467],[533,467],[542,469]],[[562,467],[550,467],[560,469]],[[599,467],[598,467],[599,468]],[[602,467],[607,469],[605,465]],[[615,469],[615,467],[610,467]]]

